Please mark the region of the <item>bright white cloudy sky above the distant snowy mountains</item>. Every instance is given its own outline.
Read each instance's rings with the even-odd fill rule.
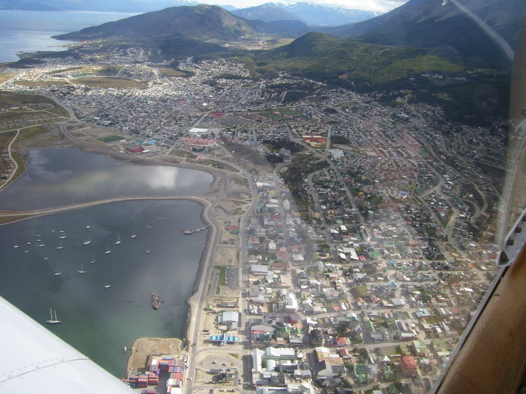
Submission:
[[[269,3],[272,0],[208,0],[203,3],[208,4],[228,4],[238,8],[253,7],[263,3]],[[297,1],[279,1],[275,3],[294,4]],[[401,6],[407,0],[309,0],[305,3],[333,5],[351,9],[364,9],[367,11],[388,12],[391,9]]]

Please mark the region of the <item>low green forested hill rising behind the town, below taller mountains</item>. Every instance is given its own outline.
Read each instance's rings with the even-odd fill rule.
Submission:
[[[332,85],[359,90],[393,86],[422,74],[451,74],[463,68],[423,48],[363,44],[322,33],[307,33],[288,45],[259,54],[262,74],[285,70]]]

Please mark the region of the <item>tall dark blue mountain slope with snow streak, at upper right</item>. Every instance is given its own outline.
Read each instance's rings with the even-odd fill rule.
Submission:
[[[524,0],[409,0],[387,14],[325,32],[361,42],[436,48],[480,66],[508,68],[525,11]]]

